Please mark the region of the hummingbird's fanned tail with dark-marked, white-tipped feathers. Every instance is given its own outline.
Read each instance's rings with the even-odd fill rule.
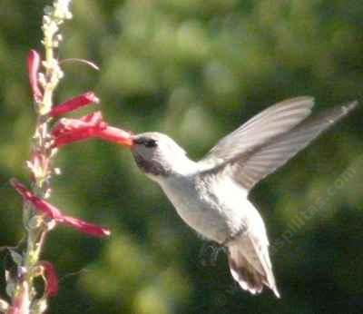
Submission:
[[[272,273],[268,244],[256,244],[248,233],[228,243],[231,275],[241,289],[251,294],[260,294],[265,285],[280,298]]]

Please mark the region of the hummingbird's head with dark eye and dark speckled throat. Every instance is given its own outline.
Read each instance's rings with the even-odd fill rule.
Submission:
[[[130,148],[138,167],[154,180],[168,176],[178,162],[186,160],[185,151],[169,136],[159,132],[133,135]]]

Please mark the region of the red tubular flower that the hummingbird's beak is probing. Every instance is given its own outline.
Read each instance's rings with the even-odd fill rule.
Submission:
[[[54,147],[90,138],[132,146],[132,134],[107,125],[101,112],[88,114],[80,120],[62,119],[55,125],[52,134]]]

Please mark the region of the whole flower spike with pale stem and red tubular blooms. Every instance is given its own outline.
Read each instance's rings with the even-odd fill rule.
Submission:
[[[0,313],[41,314],[47,309],[47,298],[58,291],[58,280],[54,266],[40,260],[44,241],[56,225],[65,225],[93,237],[106,237],[111,231],[96,224],[82,221],[60,211],[47,201],[51,194],[50,182],[59,170],[54,168],[55,154],[66,144],[92,138],[132,146],[132,133],[115,128],[104,122],[101,112],[94,112],[80,119],[54,119],[78,108],[99,103],[92,92],[54,106],[54,91],[64,74],[62,61],[54,57],[54,51],[62,41],[60,26],[72,18],[69,10],[71,0],[54,0],[46,7],[43,18],[44,60],[41,54],[31,50],[27,58],[29,83],[37,114],[35,131],[31,143],[31,155],[26,165],[31,174],[31,188],[12,179],[11,185],[24,200],[23,221],[26,231],[25,249],[8,248],[13,260],[11,269],[5,270],[6,293],[10,301],[0,299]],[[34,286],[34,279],[44,281],[44,292]]]

